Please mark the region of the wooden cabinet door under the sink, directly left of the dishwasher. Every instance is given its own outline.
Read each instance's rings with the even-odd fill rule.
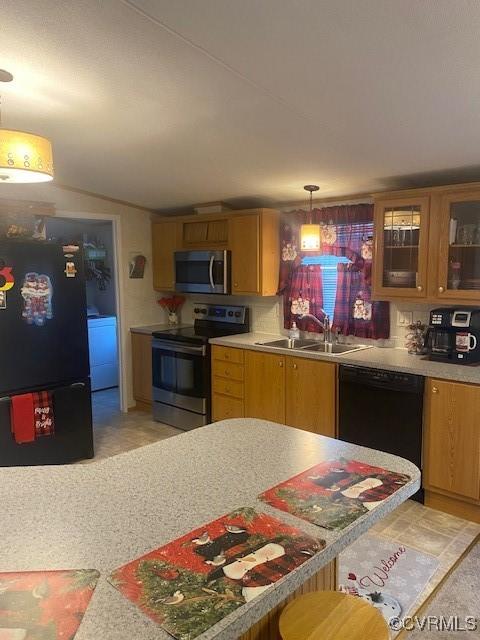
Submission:
[[[286,423],[335,437],[336,366],[286,357]]]

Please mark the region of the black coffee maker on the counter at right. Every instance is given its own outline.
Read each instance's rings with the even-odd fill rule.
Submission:
[[[425,336],[429,360],[480,362],[480,309],[433,309]]]

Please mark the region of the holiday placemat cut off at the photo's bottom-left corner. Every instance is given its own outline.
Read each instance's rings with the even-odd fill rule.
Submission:
[[[73,640],[99,576],[93,569],[0,573],[0,639]]]

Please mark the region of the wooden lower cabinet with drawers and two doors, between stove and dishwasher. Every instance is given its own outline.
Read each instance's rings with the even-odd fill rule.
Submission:
[[[262,418],[335,437],[336,365],[214,346],[212,416]]]

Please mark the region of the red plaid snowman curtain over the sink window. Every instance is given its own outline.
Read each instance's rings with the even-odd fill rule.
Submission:
[[[322,319],[322,267],[303,265],[300,226],[321,225],[321,248],[317,255],[346,257],[348,264],[337,266],[337,293],[333,327],[344,335],[362,338],[390,336],[390,307],[371,299],[373,205],[342,205],[298,210],[284,216],[281,226],[281,261],[278,295],[284,300],[284,327],[297,322],[304,331],[320,332],[314,322],[299,320],[301,313]]]

